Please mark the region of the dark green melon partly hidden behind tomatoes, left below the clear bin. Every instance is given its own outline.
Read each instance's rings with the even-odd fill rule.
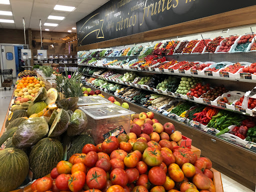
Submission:
[[[69,159],[69,157],[72,156],[74,153],[81,153],[82,147],[88,143],[95,144],[91,136],[86,134],[80,134],[76,136],[74,140],[71,141],[71,145],[67,151],[66,159]]]

